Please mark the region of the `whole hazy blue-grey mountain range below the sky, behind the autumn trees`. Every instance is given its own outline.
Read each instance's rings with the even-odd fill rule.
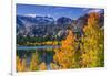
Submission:
[[[89,14],[84,14],[77,20],[67,17],[60,17],[57,21],[51,17],[27,17],[17,15],[17,35],[18,36],[58,36],[67,35],[67,29],[71,28],[73,32],[82,32],[87,25]],[[100,25],[104,24],[104,13],[100,13]]]

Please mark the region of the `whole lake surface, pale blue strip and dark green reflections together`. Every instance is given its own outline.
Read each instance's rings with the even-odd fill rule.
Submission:
[[[31,55],[36,51],[39,54],[40,62],[44,62],[47,64],[47,69],[51,69],[50,63],[53,62],[54,48],[59,48],[60,46],[53,45],[43,45],[43,46],[17,46],[17,55],[27,61],[27,67],[29,68],[31,62]],[[51,51],[49,51],[51,50]]]

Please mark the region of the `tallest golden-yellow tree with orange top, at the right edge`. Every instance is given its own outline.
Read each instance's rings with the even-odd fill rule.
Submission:
[[[104,33],[99,26],[99,13],[89,14],[88,23],[83,28],[81,48],[81,67],[103,66]]]

